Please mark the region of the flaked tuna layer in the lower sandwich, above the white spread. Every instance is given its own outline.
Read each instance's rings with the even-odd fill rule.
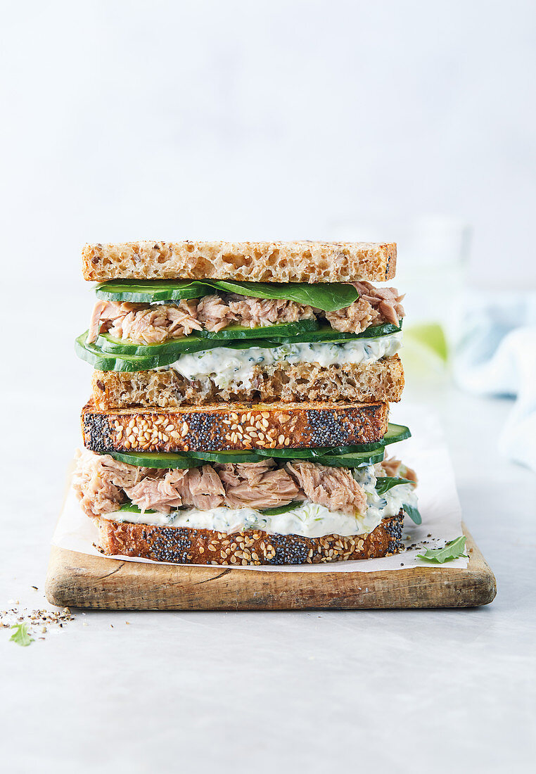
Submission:
[[[184,505],[200,510],[221,506],[265,510],[295,501],[351,515],[367,509],[367,495],[352,471],[306,461],[282,467],[267,459],[156,470],[84,450],[78,457],[73,487],[88,516],[117,511],[128,500],[142,512],[165,514]]]

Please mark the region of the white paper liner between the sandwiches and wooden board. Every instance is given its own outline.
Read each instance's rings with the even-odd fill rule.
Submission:
[[[277,566],[230,567],[233,570],[256,570],[260,572],[306,572],[306,573],[348,573],[373,572],[374,570],[407,570],[408,567],[439,567],[438,564],[417,559],[418,553],[426,548],[441,548],[446,541],[462,534],[461,509],[456,492],[454,472],[442,436],[437,417],[421,406],[394,406],[390,419],[408,425],[412,436],[387,447],[387,453],[401,458],[405,464],[414,467],[418,474],[418,507],[422,515],[422,524],[417,526],[405,519],[403,541],[406,546],[417,544],[417,549],[405,550],[394,557],[383,559],[364,559],[327,564],[299,564]],[[103,557],[93,543],[97,536],[93,522],[80,510],[76,495],[69,486],[66,501],[60,519],[56,525],[52,543],[70,551],[87,553],[94,557]],[[172,562],[153,562],[150,559],[108,557],[129,562],[149,562],[152,564],[172,564]],[[191,565],[190,565],[191,566]],[[210,565],[211,567],[213,565]],[[198,567],[207,567],[206,564]],[[449,561],[448,567],[467,567],[467,559],[460,557]]]

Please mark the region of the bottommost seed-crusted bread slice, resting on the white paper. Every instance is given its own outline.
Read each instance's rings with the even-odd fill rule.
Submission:
[[[113,514],[109,514],[113,516]],[[404,512],[382,519],[368,535],[274,535],[256,532],[227,533],[212,529],[157,527],[147,524],[93,519],[96,546],[102,553],[140,557],[179,564],[319,564],[350,559],[389,557],[401,550]]]

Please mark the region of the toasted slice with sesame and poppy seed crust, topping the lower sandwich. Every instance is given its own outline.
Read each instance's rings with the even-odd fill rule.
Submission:
[[[353,446],[381,440],[384,402],[219,403],[203,409],[82,409],[84,444],[110,451],[193,451]]]

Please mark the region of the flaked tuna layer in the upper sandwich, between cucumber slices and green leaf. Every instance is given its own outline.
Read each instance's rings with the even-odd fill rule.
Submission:
[[[375,288],[365,282],[353,284],[360,297],[336,312],[323,312],[295,301],[235,293],[162,304],[97,301],[87,341],[95,341],[98,334],[108,332],[114,338],[135,344],[159,344],[198,330],[218,331],[229,325],[265,327],[313,319],[326,320],[335,330],[350,333],[361,333],[382,323],[398,325],[404,317],[404,296],[398,290]]]

